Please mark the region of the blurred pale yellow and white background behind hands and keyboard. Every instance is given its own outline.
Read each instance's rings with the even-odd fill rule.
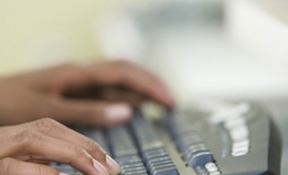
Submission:
[[[159,75],[180,103],[267,101],[288,133],[287,9],[287,0],[0,0],[0,75],[125,58]]]

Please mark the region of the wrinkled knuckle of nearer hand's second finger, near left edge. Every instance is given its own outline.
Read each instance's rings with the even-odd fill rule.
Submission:
[[[25,130],[19,134],[15,135],[14,140],[20,145],[26,145],[30,143],[33,143],[40,139],[40,135],[38,132],[32,130]]]

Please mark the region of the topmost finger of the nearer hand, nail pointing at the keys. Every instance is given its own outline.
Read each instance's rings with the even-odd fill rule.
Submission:
[[[104,154],[103,149],[93,140],[79,134],[78,132],[56,122],[52,119],[41,119],[28,124],[35,128],[41,133],[75,144],[86,150],[95,160],[106,166],[110,174],[120,172],[120,166],[109,155]],[[61,133],[61,134],[58,134]]]

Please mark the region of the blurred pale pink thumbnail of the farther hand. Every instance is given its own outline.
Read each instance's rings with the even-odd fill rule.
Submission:
[[[131,117],[131,108],[128,105],[110,105],[104,110],[107,121],[122,121]]]

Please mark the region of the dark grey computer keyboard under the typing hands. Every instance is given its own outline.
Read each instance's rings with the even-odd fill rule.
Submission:
[[[257,103],[202,103],[166,111],[158,120],[138,109],[126,125],[77,130],[119,163],[120,175],[280,174],[280,136]],[[83,175],[70,165],[52,166]]]

